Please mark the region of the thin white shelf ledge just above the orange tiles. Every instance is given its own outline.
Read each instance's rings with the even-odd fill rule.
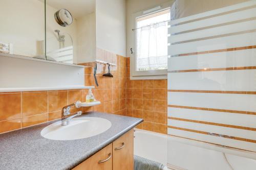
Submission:
[[[74,89],[94,89],[94,86],[56,86],[56,87],[23,87],[23,88],[0,88],[0,92],[14,91],[44,91],[44,90],[74,90]]]

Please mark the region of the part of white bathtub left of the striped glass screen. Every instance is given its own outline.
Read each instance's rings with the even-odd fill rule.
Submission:
[[[167,165],[167,135],[135,129],[134,136],[134,155]]]

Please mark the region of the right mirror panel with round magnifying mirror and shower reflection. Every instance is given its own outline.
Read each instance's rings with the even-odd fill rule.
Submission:
[[[95,0],[46,0],[47,60],[82,63],[95,39],[92,30]]]

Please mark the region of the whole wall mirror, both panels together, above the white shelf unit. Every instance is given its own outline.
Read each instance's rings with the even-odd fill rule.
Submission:
[[[95,0],[0,3],[0,55],[70,64],[95,60]]]

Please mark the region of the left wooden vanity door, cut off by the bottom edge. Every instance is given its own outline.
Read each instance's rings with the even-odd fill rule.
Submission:
[[[83,161],[75,170],[112,170],[112,143]]]

